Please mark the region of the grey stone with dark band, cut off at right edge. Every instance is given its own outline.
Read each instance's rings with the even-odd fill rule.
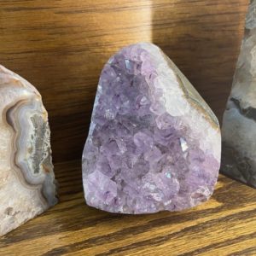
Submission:
[[[247,13],[245,36],[223,117],[221,171],[256,188],[256,1]]]

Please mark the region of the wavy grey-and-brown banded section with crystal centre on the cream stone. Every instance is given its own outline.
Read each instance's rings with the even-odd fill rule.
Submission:
[[[6,111],[6,120],[15,131],[15,166],[22,172],[26,183],[42,186],[47,203],[55,205],[55,178],[49,143],[47,113],[39,97],[27,97]]]

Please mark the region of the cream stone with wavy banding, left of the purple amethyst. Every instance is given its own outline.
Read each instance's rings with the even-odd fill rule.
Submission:
[[[0,66],[0,236],[56,201],[41,96],[32,84]]]

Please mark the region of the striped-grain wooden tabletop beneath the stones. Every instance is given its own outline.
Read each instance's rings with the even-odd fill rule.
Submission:
[[[0,239],[0,255],[256,254],[256,190],[227,177],[200,207],[132,216],[84,204],[78,161],[55,171],[61,202]]]

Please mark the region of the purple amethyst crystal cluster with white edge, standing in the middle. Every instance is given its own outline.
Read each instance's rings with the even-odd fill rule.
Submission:
[[[195,207],[212,195],[218,120],[154,44],[121,49],[102,70],[84,146],[87,204],[108,212]]]

